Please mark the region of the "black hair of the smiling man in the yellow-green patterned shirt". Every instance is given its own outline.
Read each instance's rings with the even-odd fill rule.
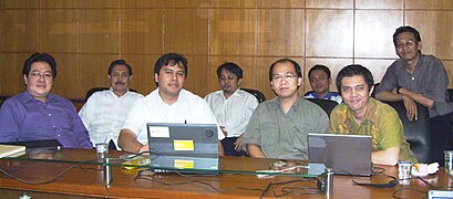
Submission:
[[[351,64],[351,65],[344,66],[340,72],[338,72],[336,83],[337,83],[337,90],[338,92],[340,92],[340,94],[341,94],[341,81],[347,76],[350,77],[354,75],[363,76],[364,82],[368,84],[368,88],[371,91],[371,87],[374,84],[374,80],[373,80],[373,75],[371,74],[370,70],[368,70],[367,67],[360,64]]]

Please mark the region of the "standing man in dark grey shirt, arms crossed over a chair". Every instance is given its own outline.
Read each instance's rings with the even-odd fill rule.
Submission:
[[[421,53],[422,40],[412,27],[400,27],[393,34],[393,44],[400,56],[385,72],[375,97],[382,101],[403,101],[410,121],[418,118],[416,104],[430,112],[433,158],[443,161],[443,150],[452,147],[447,114],[453,104],[447,94],[449,76],[442,62]]]

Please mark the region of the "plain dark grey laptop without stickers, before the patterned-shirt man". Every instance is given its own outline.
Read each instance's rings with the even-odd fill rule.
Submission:
[[[336,175],[371,176],[371,136],[308,134],[308,157]]]

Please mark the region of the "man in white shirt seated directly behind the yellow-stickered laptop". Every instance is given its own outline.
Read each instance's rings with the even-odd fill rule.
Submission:
[[[146,123],[217,124],[206,101],[183,88],[186,76],[186,57],[167,53],[157,60],[154,80],[158,87],[131,107],[120,133],[121,148],[136,154],[148,151]],[[224,137],[218,127],[218,139]],[[224,155],[220,142],[218,147]]]

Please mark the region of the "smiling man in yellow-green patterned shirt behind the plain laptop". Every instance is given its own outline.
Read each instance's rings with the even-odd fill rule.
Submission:
[[[329,130],[334,134],[371,135],[371,161],[397,165],[399,160],[418,163],[404,136],[397,111],[370,97],[371,72],[361,65],[348,65],[337,75],[343,104],[330,114]]]

